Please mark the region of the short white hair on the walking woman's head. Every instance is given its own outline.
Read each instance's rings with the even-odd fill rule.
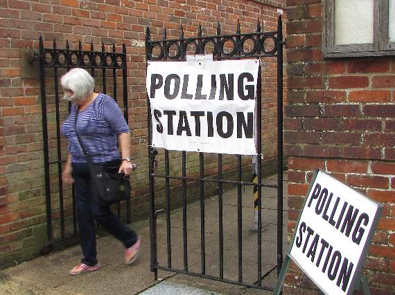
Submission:
[[[95,80],[94,78],[83,68],[72,68],[60,78],[60,84],[63,90],[73,91],[71,97],[67,97],[64,93],[64,99],[71,101],[83,99],[94,92]]]

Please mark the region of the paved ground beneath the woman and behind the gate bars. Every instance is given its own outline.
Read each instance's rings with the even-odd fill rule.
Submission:
[[[284,179],[286,180],[286,173]],[[275,176],[264,183],[276,184]],[[274,269],[277,256],[277,200],[276,189],[263,189],[263,251],[262,268],[266,274],[263,285],[273,286],[277,278]],[[286,181],[284,181],[284,209],[286,209]],[[223,197],[224,216],[224,276],[238,279],[237,248],[237,190]],[[218,276],[218,197],[205,201],[206,274]],[[201,272],[200,204],[188,205],[188,269]],[[288,251],[286,211],[283,213],[283,251]],[[252,188],[243,189],[243,281],[254,283],[256,274],[256,233],[250,231],[254,221]],[[71,267],[80,260],[80,247],[75,246],[53,254],[41,256],[0,272],[0,294],[270,294],[262,290],[218,282],[185,274],[159,271],[159,280],[150,272],[150,229],[148,220],[132,225],[142,237],[143,248],[137,263],[123,265],[123,246],[111,236],[98,239],[98,272],[69,276]],[[166,248],[166,216],[157,220],[159,265],[168,263]],[[182,269],[182,209],[171,212],[172,267]],[[270,272],[271,269],[272,272]],[[156,285],[157,284],[157,285]],[[184,288],[184,289],[183,289]],[[167,290],[167,293],[164,291]]]

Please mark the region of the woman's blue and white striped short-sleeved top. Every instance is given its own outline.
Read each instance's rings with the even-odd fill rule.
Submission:
[[[74,127],[76,110],[76,104],[71,104],[69,117],[60,131],[69,140],[71,161],[87,162]],[[128,133],[129,127],[115,100],[99,93],[84,111],[78,113],[77,130],[92,162],[105,162],[120,158],[117,135]]]

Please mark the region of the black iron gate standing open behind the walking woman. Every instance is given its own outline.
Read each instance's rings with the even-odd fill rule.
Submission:
[[[67,142],[60,136],[60,122],[69,114],[70,104],[60,99],[59,79],[74,67],[85,68],[95,79],[95,90],[111,95],[123,108],[123,115],[128,122],[128,88],[126,68],[126,48],[116,53],[113,44],[112,52],[71,50],[69,41],[65,49],[58,49],[53,40],[53,48],[44,48],[40,37],[40,85],[42,103],[42,134],[44,144],[44,175],[46,196],[46,222],[48,242],[43,251],[51,251],[54,247],[65,247],[78,240],[76,220],[75,194],[73,187],[62,185],[62,163],[67,155]],[[125,209],[126,220],[130,222],[130,199],[115,205],[118,216]]]

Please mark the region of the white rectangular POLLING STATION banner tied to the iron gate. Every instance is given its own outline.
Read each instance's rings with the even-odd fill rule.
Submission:
[[[152,146],[256,155],[258,60],[149,61]]]

